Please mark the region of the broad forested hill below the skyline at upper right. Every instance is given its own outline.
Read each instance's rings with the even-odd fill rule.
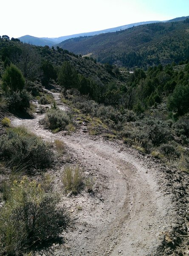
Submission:
[[[72,38],[58,44],[81,55],[92,53],[97,61],[124,67],[147,67],[162,60],[179,61],[189,56],[189,23],[153,23],[130,29]]]

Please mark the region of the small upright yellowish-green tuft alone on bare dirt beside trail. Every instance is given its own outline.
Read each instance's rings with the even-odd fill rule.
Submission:
[[[79,167],[74,169],[71,166],[66,166],[62,175],[62,183],[67,191],[71,191],[73,194],[79,192],[83,184],[83,177]]]

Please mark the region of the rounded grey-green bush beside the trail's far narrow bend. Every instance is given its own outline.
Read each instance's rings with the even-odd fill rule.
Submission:
[[[57,109],[50,109],[45,114],[44,124],[47,128],[51,130],[59,129],[64,130],[66,125],[71,122],[70,117],[65,113],[65,111]]]

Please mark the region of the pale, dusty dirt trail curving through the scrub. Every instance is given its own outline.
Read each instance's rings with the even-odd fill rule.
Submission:
[[[59,94],[53,93],[58,105]],[[39,125],[44,115],[34,119],[12,119],[45,140],[62,140],[94,178],[96,193],[82,192],[68,198],[76,219],[72,230],[66,230],[66,244],[52,247],[43,255],[167,255],[161,251],[165,236],[172,232],[178,209],[175,195],[166,180],[164,166],[151,158],[126,148],[121,143],[91,137],[81,130],[72,135],[52,134]]]

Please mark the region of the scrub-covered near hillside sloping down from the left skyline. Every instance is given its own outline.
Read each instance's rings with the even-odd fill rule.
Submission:
[[[28,56],[26,56],[27,52]],[[56,73],[59,71],[63,61],[70,61],[78,73],[88,78],[90,77],[99,84],[106,84],[112,79],[117,80],[115,74],[108,73],[107,69],[102,67],[101,64],[96,63],[93,58],[82,58],[61,48],[55,50],[54,47],[51,49],[48,46],[37,47],[23,44],[22,42],[1,40],[0,54],[3,61],[8,58],[9,61],[20,67],[24,74],[28,73],[26,76],[33,76],[31,80],[38,79],[41,76],[42,70],[40,69],[43,61],[51,63],[54,69],[57,70]],[[25,61],[27,61],[26,67]],[[27,68],[29,68],[28,71]],[[0,73],[3,73],[3,67],[0,69]]]

